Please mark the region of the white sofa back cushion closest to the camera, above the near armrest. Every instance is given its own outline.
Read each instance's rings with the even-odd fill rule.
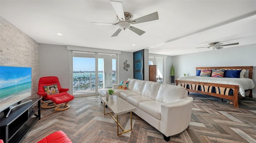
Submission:
[[[185,88],[182,86],[161,84],[156,96],[156,101],[171,103],[180,100],[185,95]]]

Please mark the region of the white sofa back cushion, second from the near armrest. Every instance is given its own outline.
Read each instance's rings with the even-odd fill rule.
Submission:
[[[156,95],[157,95],[159,86],[160,86],[159,82],[147,81],[143,88],[142,95],[156,100]]]

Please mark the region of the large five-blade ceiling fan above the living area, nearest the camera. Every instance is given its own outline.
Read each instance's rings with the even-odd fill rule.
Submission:
[[[134,33],[136,33],[138,35],[142,35],[145,33],[145,31],[138,29],[136,27],[133,27],[133,26],[131,26],[131,24],[139,24],[142,22],[158,20],[158,12],[154,12],[152,14],[148,14],[146,16],[142,16],[140,18],[132,20],[132,14],[130,14],[128,12],[124,12],[122,2],[110,1],[110,3],[112,4],[112,6],[116,12],[116,15],[117,15],[116,19],[118,22],[117,23],[91,22],[91,24],[92,25],[118,25],[120,28],[117,29],[117,31],[111,37],[117,36],[122,31],[122,29],[123,30],[130,29]]]

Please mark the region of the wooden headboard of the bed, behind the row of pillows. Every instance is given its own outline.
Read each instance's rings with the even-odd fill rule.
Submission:
[[[224,70],[246,70],[248,71],[248,78],[252,79],[252,70],[253,66],[243,66],[243,67],[196,67],[196,70],[215,70],[215,69],[224,69]]]

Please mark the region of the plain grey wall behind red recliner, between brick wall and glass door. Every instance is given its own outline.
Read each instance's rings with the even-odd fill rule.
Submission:
[[[63,88],[70,88],[70,51],[67,46],[39,43],[39,77],[57,76]]]

